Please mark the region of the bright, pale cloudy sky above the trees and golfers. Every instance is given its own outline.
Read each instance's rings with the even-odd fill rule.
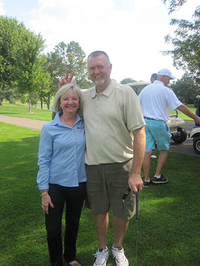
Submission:
[[[164,36],[173,32],[172,18],[192,21],[199,0],[187,0],[168,15],[161,0],[0,0],[0,15],[16,17],[45,39],[44,53],[64,41],[78,42],[86,56],[105,51],[112,63],[111,78],[148,81],[152,73],[168,68],[180,79],[184,73],[161,50],[173,46]],[[63,73],[64,75],[64,73]]]

